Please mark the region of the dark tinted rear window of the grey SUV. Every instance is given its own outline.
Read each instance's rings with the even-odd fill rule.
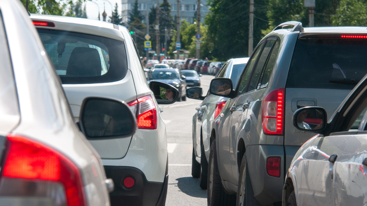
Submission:
[[[367,73],[367,40],[339,37],[298,39],[286,87],[353,89]]]

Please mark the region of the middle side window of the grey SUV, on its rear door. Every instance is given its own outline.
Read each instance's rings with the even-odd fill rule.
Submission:
[[[261,54],[259,56],[259,60],[256,64],[256,68],[252,74],[250,85],[248,88],[248,92],[255,90],[257,87],[257,81],[260,77],[261,72],[263,71],[264,65],[268,59],[269,53],[273,47],[275,40],[269,40],[265,43],[263,51],[261,51]]]

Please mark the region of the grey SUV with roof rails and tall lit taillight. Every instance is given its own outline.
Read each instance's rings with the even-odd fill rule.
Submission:
[[[209,92],[230,99],[212,126],[208,205],[281,203],[293,156],[313,136],[293,126],[293,113],[337,109],[367,73],[366,37],[366,27],[285,22],[259,42],[234,90],[212,80]]]

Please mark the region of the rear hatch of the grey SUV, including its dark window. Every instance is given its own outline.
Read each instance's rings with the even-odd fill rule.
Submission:
[[[293,126],[292,117],[298,108],[320,106],[330,117],[367,73],[366,37],[344,34],[299,37],[285,86],[284,145],[300,146],[315,135]]]

